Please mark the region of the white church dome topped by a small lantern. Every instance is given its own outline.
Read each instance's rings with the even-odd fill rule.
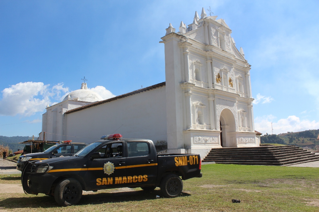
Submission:
[[[65,100],[77,100],[84,102],[97,102],[102,101],[103,98],[96,92],[88,90],[86,83],[82,83],[81,89],[70,92],[64,99]]]

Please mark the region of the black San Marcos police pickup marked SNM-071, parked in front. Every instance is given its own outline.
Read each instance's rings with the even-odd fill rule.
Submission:
[[[54,196],[61,206],[77,204],[82,190],[160,187],[163,196],[176,197],[182,180],[202,177],[199,154],[156,155],[151,140],[120,138],[102,136],[73,156],[28,161],[21,174],[25,193]]]

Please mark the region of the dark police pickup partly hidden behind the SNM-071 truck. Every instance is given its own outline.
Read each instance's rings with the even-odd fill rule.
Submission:
[[[21,155],[17,161],[17,169],[22,171],[27,161],[39,161],[46,160],[48,158],[71,156],[86,145],[87,144],[85,143],[71,143],[71,140],[66,140],[53,145],[44,152]]]

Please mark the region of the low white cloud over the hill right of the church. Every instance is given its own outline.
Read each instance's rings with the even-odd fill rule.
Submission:
[[[319,129],[319,122],[315,120],[300,120],[299,117],[293,115],[288,116],[286,119],[279,119],[277,122],[273,122],[275,118],[273,115],[257,117],[255,119],[255,129],[263,134],[271,133],[271,122],[274,134]]]

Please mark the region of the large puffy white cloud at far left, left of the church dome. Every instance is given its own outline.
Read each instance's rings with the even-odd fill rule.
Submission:
[[[59,98],[61,91],[67,92],[59,83],[52,88],[43,82],[20,82],[11,85],[2,91],[0,100],[0,115],[4,116],[31,116],[43,111],[47,104],[51,105],[51,99]]]

